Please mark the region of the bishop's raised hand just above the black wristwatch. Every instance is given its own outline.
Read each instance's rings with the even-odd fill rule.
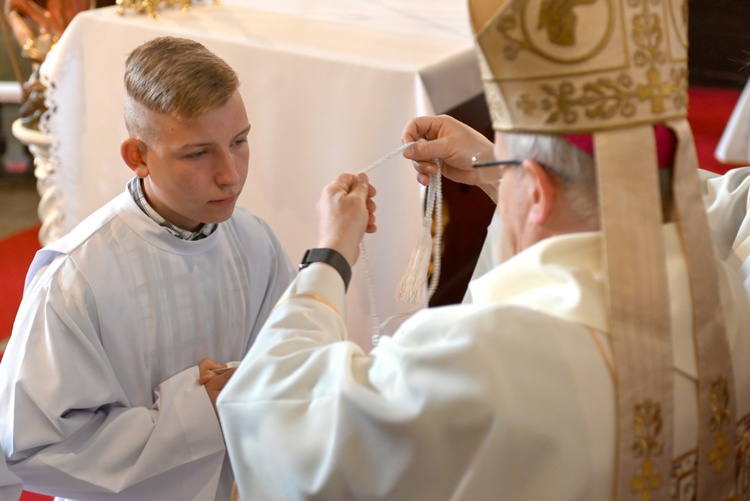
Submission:
[[[341,174],[326,186],[318,201],[318,247],[340,252],[354,266],[362,237],[377,230],[374,196],[363,173]]]

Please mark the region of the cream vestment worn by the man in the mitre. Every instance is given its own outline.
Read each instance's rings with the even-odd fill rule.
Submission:
[[[685,499],[697,369],[676,227],[664,235],[672,480]],[[423,310],[369,354],[346,341],[337,272],[301,271],[218,400],[242,499],[610,499],[616,399],[602,255],[598,233],[545,239],[474,281],[472,304]],[[747,429],[750,310],[730,277],[722,302]]]

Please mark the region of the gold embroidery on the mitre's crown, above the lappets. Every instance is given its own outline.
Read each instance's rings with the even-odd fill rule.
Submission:
[[[590,37],[581,41],[576,35],[575,13],[589,5],[605,4],[602,0],[540,1],[542,6],[554,5],[561,11],[542,10],[538,13],[538,27],[548,32],[548,46],[545,48],[539,37],[534,39],[528,34],[525,17],[527,11],[533,11],[528,6],[535,0],[513,0],[495,25],[505,39],[503,54],[506,59],[513,60],[519,52],[526,50],[549,61],[571,66],[601,52],[611,38],[611,26],[598,38],[593,37],[594,43]],[[661,14],[666,14],[660,10],[662,2],[674,0],[626,0],[631,12],[628,24],[632,54],[625,67],[620,70],[613,68],[614,72],[599,72],[593,78],[578,74],[554,81],[556,78],[550,75],[549,79],[532,87],[533,90],[517,94],[514,105],[522,115],[533,117],[541,114],[539,119],[547,125],[576,125],[580,121],[606,123],[615,118],[627,120],[638,113],[644,118],[664,115],[665,112],[684,114],[687,110],[687,68],[673,65],[667,53],[666,31],[669,27],[662,21]],[[670,3],[667,7],[672,5]],[[611,18],[608,16],[609,24]],[[684,30],[675,28],[674,31],[682,33]],[[589,45],[580,46],[584,42]],[[555,53],[550,49],[555,45],[570,50]],[[571,72],[576,73],[576,70],[571,67]],[[504,80],[504,77],[500,75],[498,80]]]

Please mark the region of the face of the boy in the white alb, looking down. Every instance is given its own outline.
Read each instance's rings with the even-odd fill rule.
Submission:
[[[142,147],[144,168],[136,173],[149,204],[185,230],[226,221],[245,184],[249,159],[250,124],[239,92],[197,118],[148,115],[155,133]]]

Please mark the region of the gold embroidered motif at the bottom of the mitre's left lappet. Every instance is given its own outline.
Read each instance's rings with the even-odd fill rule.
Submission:
[[[635,475],[630,482],[634,493],[640,494],[641,501],[649,501],[652,491],[661,487],[662,475],[654,471],[654,458],[660,456],[664,450],[661,435],[662,418],[661,406],[651,400],[635,406],[635,436],[633,456],[643,458],[641,473]]]

